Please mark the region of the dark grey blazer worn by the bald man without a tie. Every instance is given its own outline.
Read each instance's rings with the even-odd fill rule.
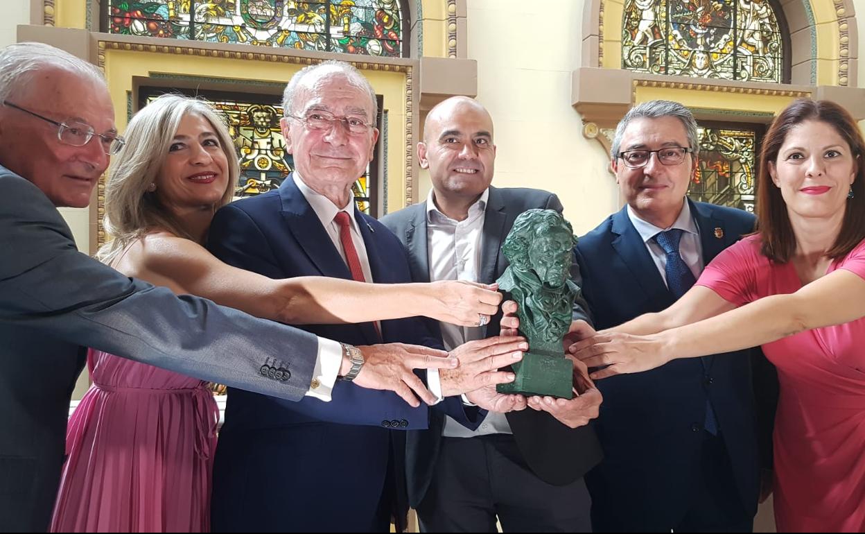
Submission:
[[[527,209],[555,209],[561,213],[558,196],[548,191],[532,189],[498,189],[490,187],[481,244],[481,270],[479,280],[490,284],[508,267],[502,254],[502,243],[514,220]],[[385,216],[381,222],[391,229],[406,246],[410,258],[412,280],[429,281],[429,256],[426,236],[426,203],[401,209]],[[580,270],[572,267],[572,280],[580,284]],[[580,305],[581,304],[581,305]],[[578,297],[574,306],[575,318],[585,309],[585,300]],[[486,335],[498,334],[502,314],[499,312],[486,326]],[[438,322],[427,319],[433,331],[439,331]],[[592,428],[567,428],[547,412],[525,409],[507,415],[514,439],[526,463],[541,479],[562,486],[579,479],[596,465],[601,452]],[[443,415],[431,415],[429,429],[409,432],[407,435],[407,481],[409,503],[417,507],[426,494],[436,459],[439,455]]]

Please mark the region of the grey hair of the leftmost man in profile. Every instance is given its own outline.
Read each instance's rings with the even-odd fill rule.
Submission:
[[[36,73],[52,68],[106,85],[105,76],[93,63],[42,42],[19,42],[0,51],[0,102],[18,96]]]

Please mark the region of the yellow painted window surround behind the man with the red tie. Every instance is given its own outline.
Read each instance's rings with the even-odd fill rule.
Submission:
[[[287,83],[302,67],[284,62],[106,49],[106,78],[121,132],[126,125],[126,94],[132,90],[133,77],[174,74]],[[388,207],[399,209],[404,205],[406,183],[406,74],[384,71],[363,71],[363,74],[375,92],[382,95],[388,110]],[[170,85],[170,80],[160,79],[157,84]]]

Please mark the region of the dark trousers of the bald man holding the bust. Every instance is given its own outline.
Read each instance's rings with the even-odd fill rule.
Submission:
[[[443,438],[418,506],[422,532],[590,532],[583,479],[552,486],[535,476],[508,434]]]

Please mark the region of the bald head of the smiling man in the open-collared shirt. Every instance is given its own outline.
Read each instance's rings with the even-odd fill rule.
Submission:
[[[465,96],[455,96],[430,110],[424,140],[418,143],[422,169],[429,169],[439,208],[459,205],[459,216],[492,182],[496,145],[490,113]]]

